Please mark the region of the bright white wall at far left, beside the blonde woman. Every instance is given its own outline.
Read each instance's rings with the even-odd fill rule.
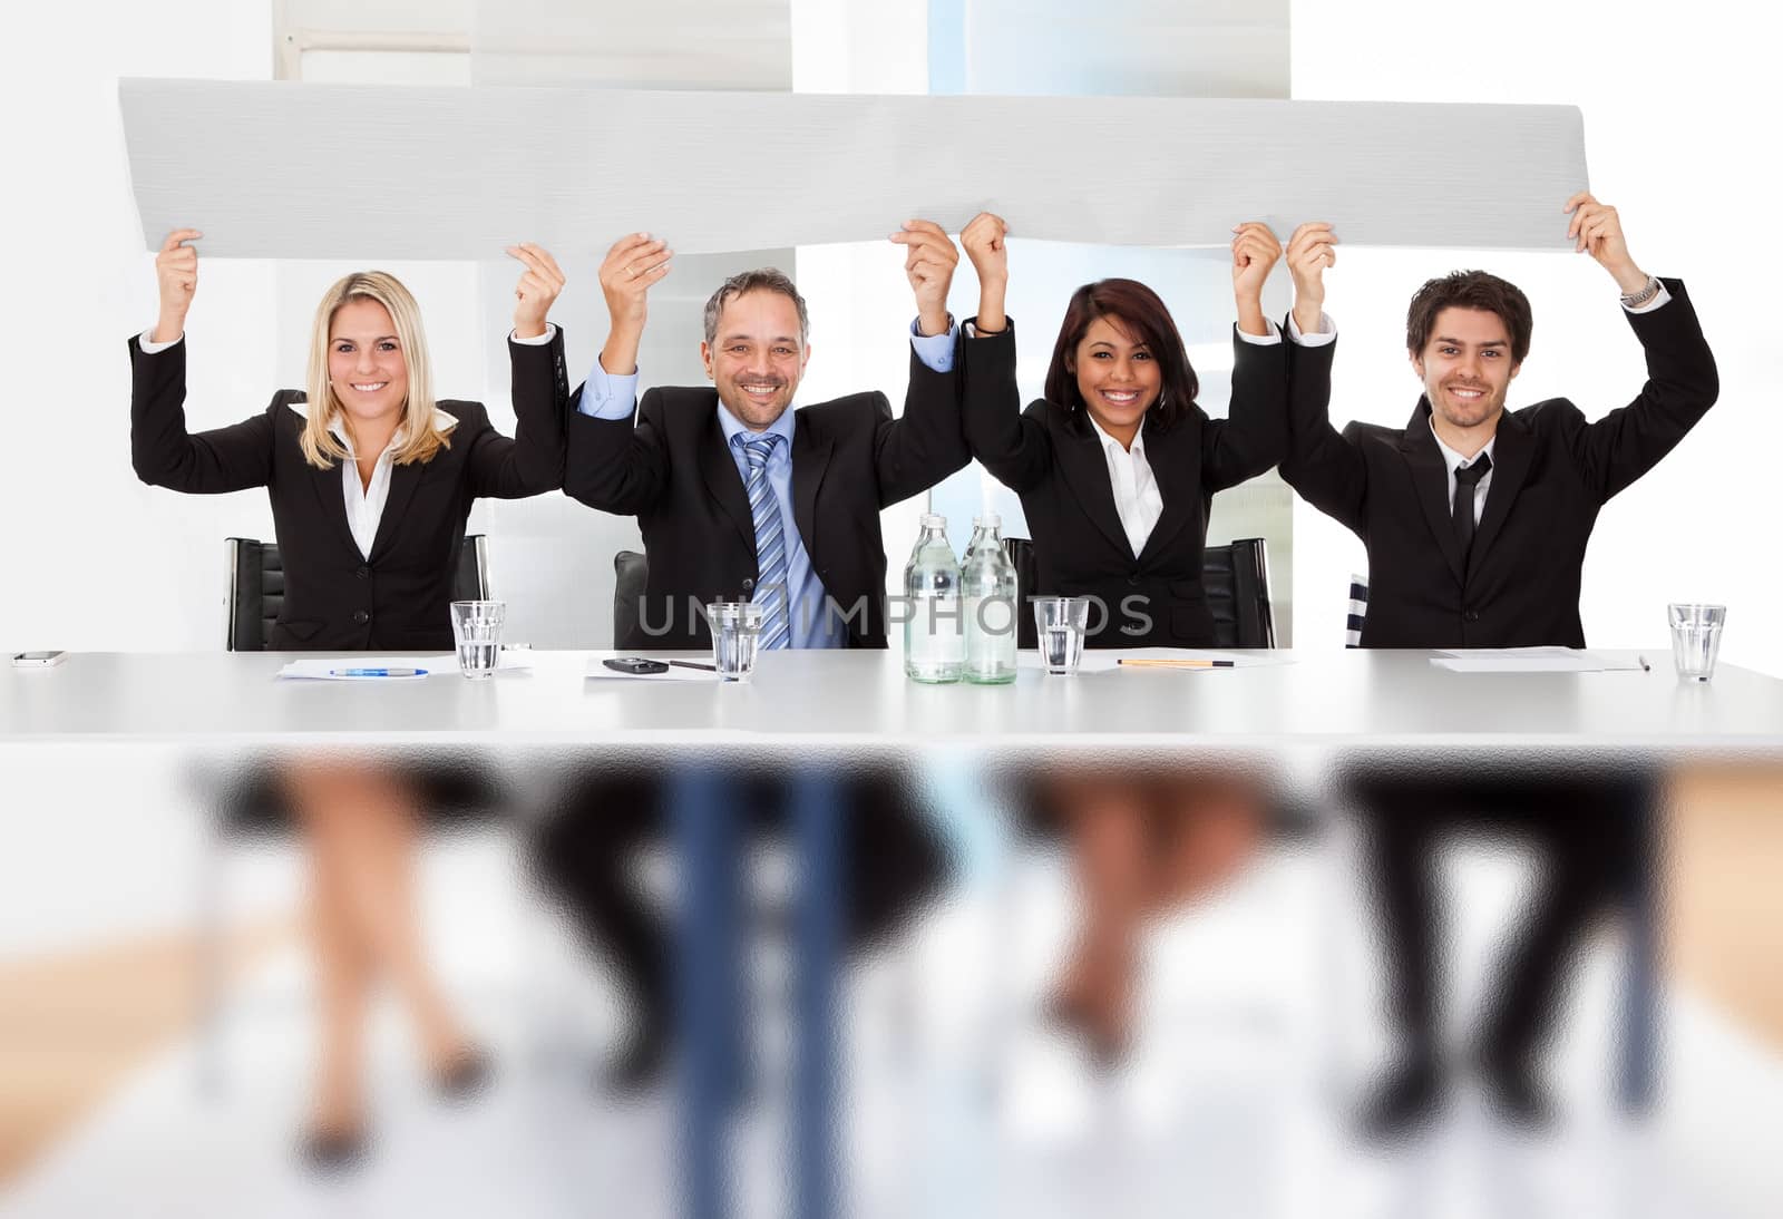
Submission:
[[[266,494],[194,501],[130,472],[125,337],[153,321],[155,280],[118,77],[269,78],[269,7],[21,5],[5,25],[0,326],[23,358],[0,399],[0,647],[216,647],[221,538],[266,528]],[[207,422],[264,408],[271,264],[205,266],[191,326],[205,351],[228,353],[193,365]]]

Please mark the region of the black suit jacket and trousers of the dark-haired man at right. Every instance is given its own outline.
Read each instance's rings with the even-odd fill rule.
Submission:
[[[1665,289],[1671,301],[1628,314],[1647,362],[1628,406],[1587,422],[1567,399],[1549,399],[1500,419],[1466,558],[1428,399],[1403,430],[1352,422],[1337,433],[1328,419],[1335,344],[1294,349],[1282,478],[1368,545],[1362,647],[1585,645],[1578,595],[1598,510],[1676,447],[1719,392],[1683,283],[1665,280]],[[1633,822],[1651,816],[1651,786],[1624,766],[1471,757],[1419,773],[1360,766],[1350,788],[1368,818],[1393,1018],[1409,1062],[1425,1069],[1437,1062],[1441,1023],[1435,838],[1483,825],[1541,847],[1548,884],[1496,975],[1478,1048],[1489,1064],[1526,1068],[1551,1023],[1567,950],[1605,898],[1649,864]]]

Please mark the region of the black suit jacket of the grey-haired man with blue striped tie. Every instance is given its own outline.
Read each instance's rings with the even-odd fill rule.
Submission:
[[[633,419],[569,410],[563,490],[590,508],[637,515],[649,560],[640,624],[654,647],[703,649],[692,604],[749,601],[756,528],[719,428],[717,390],[651,389]],[[886,645],[886,551],[879,511],[965,467],[954,372],[915,353],[902,419],[884,394],[850,394],[793,415],[793,520],[811,570],[843,611],[850,647]]]

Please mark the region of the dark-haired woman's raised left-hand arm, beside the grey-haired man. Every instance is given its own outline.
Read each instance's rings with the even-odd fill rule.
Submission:
[[[1004,487],[1023,492],[1052,469],[1052,442],[1045,424],[1022,413],[1015,380],[1015,323],[1004,314],[1009,289],[1009,226],[1000,216],[979,212],[959,244],[979,274],[979,315],[961,340],[959,401],[972,456]]]

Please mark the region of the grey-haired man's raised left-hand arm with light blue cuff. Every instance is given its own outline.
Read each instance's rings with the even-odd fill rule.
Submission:
[[[637,515],[669,485],[669,454],[660,428],[638,415],[638,340],[649,290],[669,274],[674,251],[649,233],[613,242],[601,262],[606,344],[588,380],[571,396],[565,417],[569,456],[563,490],[601,511]]]

